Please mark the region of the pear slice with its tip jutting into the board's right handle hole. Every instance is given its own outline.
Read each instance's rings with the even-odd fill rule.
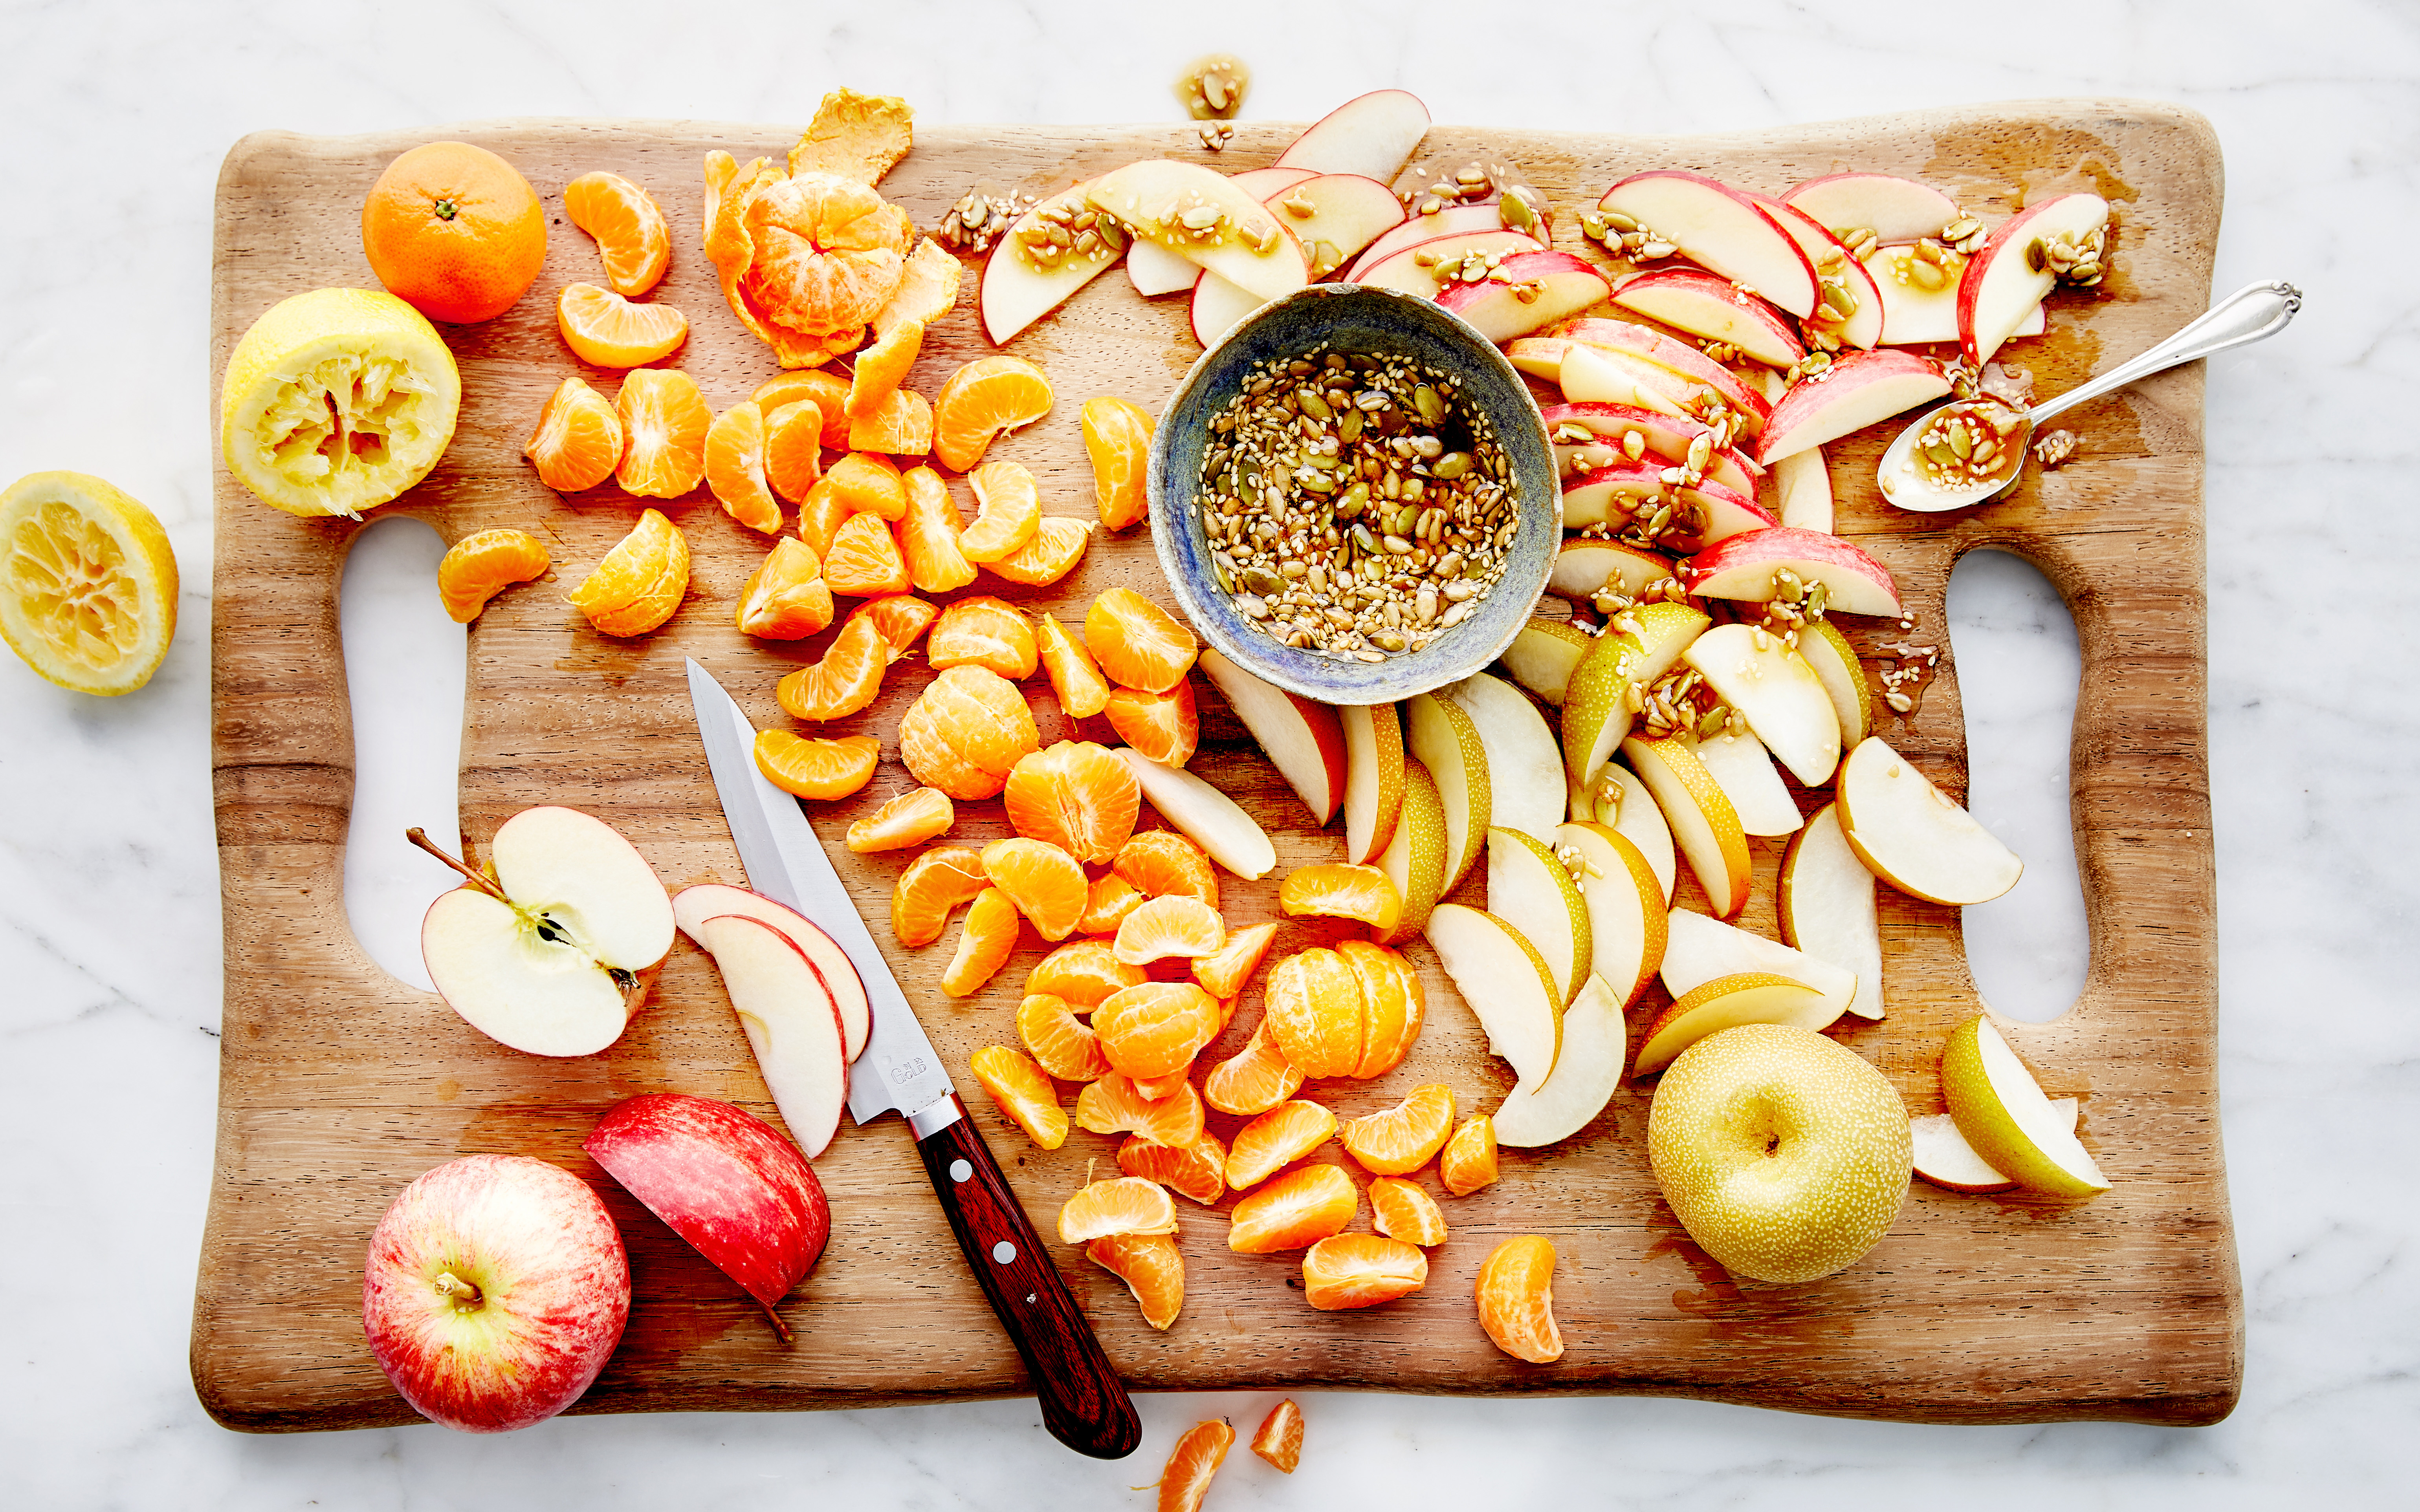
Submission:
[[[1929,902],[1992,902],[2026,864],[1914,764],[1866,735],[1839,764],[1839,827],[1866,871]]]

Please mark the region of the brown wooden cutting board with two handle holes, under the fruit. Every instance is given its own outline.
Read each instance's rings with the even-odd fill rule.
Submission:
[[[796,128],[496,121],[450,133],[244,138],[218,184],[213,375],[271,302],[319,285],[375,288],[361,254],[361,198],[394,152],[440,135],[513,160],[547,196],[552,223],[537,288],[501,319],[448,331],[462,365],[460,431],[438,469],[382,510],[419,515],[445,539],[513,525],[554,549],[552,578],[501,595],[469,629],[465,839],[477,852],[511,813],[571,803],[615,823],[673,888],[741,883],[690,721],[682,656],[711,668],[765,726],[784,719],[774,682],[820,653],[823,639],[755,644],[731,627],[733,598],[767,539],[733,525],[704,491],[670,510],[695,549],[690,602],[653,636],[598,636],[561,595],[632,527],[636,503],[612,486],[559,498],[520,460],[520,445],[564,375],[583,373],[607,394],[617,382],[586,370],[554,331],[554,293],[598,278],[593,247],[559,213],[561,186],[588,169],[627,174],[666,208],[675,252],[656,298],[692,322],[675,365],[707,402],[721,409],[774,375],[770,351],[724,307],[699,254],[699,160],[709,148],[741,160],[779,155]],[[1249,123],[1222,155],[1208,155],[1186,126],[934,126],[920,131],[883,194],[932,227],[970,186],[1041,194],[1154,155],[1241,169],[1270,162],[1292,135],[1290,126]],[[1762,191],[1837,169],[1900,172],[1987,220],[2055,186],[2098,189],[2120,220],[2105,288],[2098,298],[2059,295],[2052,334],[2009,353],[2045,394],[2151,346],[2205,307],[2222,194],[2209,126],[2183,109],[2130,102],[2004,104],[1721,138],[1440,126],[1411,167],[1433,177],[1474,157],[1515,162],[1544,186],[1558,208],[1556,244],[1568,249],[1580,249],[1575,210],[1646,167],[1689,167]],[[958,310],[927,336],[912,375],[924,394],[990,351],[973,283],[970,266]],[[1198,356],[1183,300],[1145,302],[1123,273],[1099,278],[1012,351],[1050,373],[1058,406],[992,457],[1031,467],[1050,513],[1087,518],[1082,402],[1123,394],[1157,414]],[[1883,733],[1951,793],[1965,791],[1943,627],[1951,564],[1970,547],[2011,549],[2035,561],[2074,612],[2084,646],[2074,823],[2091,973],[2072,1014],[2013,1038],[2052,1096],[2084,1098],[2084,1139],[2115,1188],[2093,1202],[2047,1202],[1958,1198],[1917,1183],[1890,1236],[1844,1275],[1805,1287],[1738,1285],[1689,1243],[1658,1195],[1643,1149],[1648,1089],[1624,1086],[1573,1139],[1505,1152],[1503,1181],[1445,1200],[1452,1239],[1435,1251],[1428,1287],[1392,1306],[1312,1311],[1297,1256],[1229,1253],[1225,1212],[1191,1202],[1179,1202],[1186,1309],[1166,1333],[1140,1321],[1118,1280],[1062,1251],[1070,1285],[1135,1389],[1626,1391],[1931,1422],[2226,1415],[2241,1384],[2243,1314],[2217,1120],[2202,373],[2168,373],[2062,423],[2084,438],[2079,460],[2028,477],[2013,501],[1987,510],[1883,508],[1873,489],[1878,431],[1832,448],[1832,477],[1842,532],[1892,569],[1917,619],[1912,631],[1856,622],[1851,639],[1873,668],[1890,665],[1892,644],[1938,646],[1943,658],[1917,714],[1885,721]],[[472,1152],[532,1154],[581,1173],[629,1241],[629,1333],[574,1410],[859,1408],[1024,1393],[1016,1355],[949,1239],[900,1120],[845,1127],[818,1161],[832,1243],[784,1306],[799,1335],[791,1347],[774,1343],[733,1282],[581,1154],[598,1115],[641,1091],[716,1096],[779,1118],[711,963],[685,941],[622,1043],[588,1060],[506,1050],[361,951],[341,900],[353,748],[336,644],[336,585],[356,530],[269,510],[218,474],[213,777],[227,975],[218,1166],[191,1347],[211,1415],[264,1432],[414,1420],[363,1343],[363,1246],[407,1181]],[[1120,583],[1169,602],[1140,527],[1099,539],[1079,573],[1055,588],[985,576],[973,590],[1079,617]],[[1050,1231],[1087,1166],[1113,1164],[1116,1142],[1074,1132],[1043,1154],[966,1074],[980,1045],[1016,1043],[1014,1006],[1041,948],[1028,936],[987,992],[946,999],[937,977],[956,931],[922,953],[891,941],[886,902],[903,854],[862,859],[840,847],[857,813],[912,784],[895,731],[927,677],[920,656],[898,663],[881,702],[842,721],[883,738],[883,767],[857,798],[811,808],[992,1149]],[[1278,844],[1273,876],[1222,876],[1229,924],[1275,917],[1285,868],[1341,859],[1341,832],[1309,827],[1227,706],[1195,685],[1203,750],[1193,769],[1234,793]],[[1079,731],[1062,719],[1043,677],[1028,687],[1045,743],[1111,740],[1099,721]],[[1800,798],[1808,808],[1820,801]],[[1004,832],[997,801],[970,803],[949,839],[983,844]],[[1757,859],[1742,922],[1771,934],[1779,847],[1759,844]],[[1467,883],[1467,900],[1479,902],[1479,890],[1481,878]],[[1687,868],[1677,902],[1704,907]],[[1290,922],[1278,951],[1331,934]],[[1883,936],[1890,1016],[1837,1033],[1914,1113],[1931,1113],[1941,1108],[1943,1035],[1977,1009],[1958,912],[1883,888]],[[1510,1086],[1428,948],[1416,943],[1411,956],[1430,1004],[1411,1060],[1379,1081],[1314,1084],[1307,1096],[1360,1115],[1416,1084],[1445,1081],[1469,1113],[1493,1108]],[[1648,992],[1634,1033],[1663,1002],[1660,989]],[[1258,1011],[1254,985],[1200,1064],[1234,1052]],[[1212,1115],[1222,1137],[1239,1123]],[[1336,1149],[1321,1159],[1346,1161]],[[1423,1181],[1437,1190],[1433,1171]],[[1512,1234],[1546,1234],[1558,1248],[1554,1306],[1566,1352],[1556,1364],[1520,1364],[1479,1331],[1474,1275]]]

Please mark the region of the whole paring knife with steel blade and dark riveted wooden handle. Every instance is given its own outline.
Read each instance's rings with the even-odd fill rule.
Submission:
[[[711,673],[695,660],[687,668],[697,735],[707,745],[714,793],[724,801],[724,820],[741,866],[748,868],[748,885],[820,924],[866,982],[874,1028],[849,1067],[849,1118],[871,1123],[898,1108],[908,1120],[958,1248],[1033,1377],[1050,1437],[1094,1459],[1125,1459],[1142,1439],[1142,1422],[1084,1309],[1043,1251],[999,1161],[983,1144],[983,1132],[966,1115],[966,1103],[941,1069],[941,1055],[924,1038],[891,963],[866,934],[816,827],[806,823],[796,798],[757,772],[757,733],[748,714]]]

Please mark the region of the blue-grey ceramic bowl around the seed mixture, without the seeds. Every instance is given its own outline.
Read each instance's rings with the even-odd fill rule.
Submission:
[[[1510,462],[1520,527],[1503,578],[1479,598],[1479,607],[1428,646],[1379,663],[1280,646],[1217,585],[1210,544],[1193,513],[1200,491],[1210,421],[1244,385],[1244,375],[1268,358],[1292,360],[1314,346],[1326,351],[1401,356],[1462,380],[1462,402],[1476,404],[1496,426]],[[1266,682],[1321,704],[1392,704],[1416,692],[1445,687],[1496,660],[1529,622],[1537,595],[1563,544],[1561,479],[1537,399],[1496,344],[1433,300],[1382,288],[1319,283],[1263,305],[1225,341],[1205,351],[1176,387],[1150,455],[1152,544],[1176,602],[1208,646]]]

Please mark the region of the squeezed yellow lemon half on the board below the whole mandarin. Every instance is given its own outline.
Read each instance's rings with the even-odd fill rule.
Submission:
[[[271,305],[227,353],[218,443],[261,503],[361,518],[428,477],[460,411],[462,375],[419,310],[315,288]]]

